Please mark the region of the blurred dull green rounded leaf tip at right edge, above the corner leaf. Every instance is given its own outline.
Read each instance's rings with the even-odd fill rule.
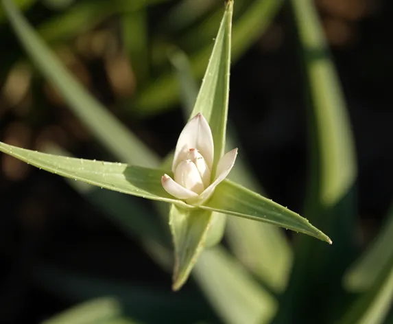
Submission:
[[[344,275],[344,286],[347,290],[362,292],[374,285],[377,277],[393,258],[392,238],[393,205],[390,207],[385,224],[381,226],[381,233]]]

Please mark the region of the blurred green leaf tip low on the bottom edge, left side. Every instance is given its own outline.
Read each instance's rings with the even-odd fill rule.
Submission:
[[[41,324],[94,324],[116,319],[120,315],[121,306],[117,299],[102,297],[80,303]]]

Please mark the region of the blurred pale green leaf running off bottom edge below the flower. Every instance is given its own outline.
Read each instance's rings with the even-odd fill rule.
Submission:
[[[270,323],[276,313],[276,300],[261,290],[259,283],[224,248],[205,250],[194,271],[195,279],[223,323]]]

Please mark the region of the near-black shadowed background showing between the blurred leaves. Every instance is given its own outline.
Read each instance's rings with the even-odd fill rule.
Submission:
[[[359,247],[365,248],[379,230],[393,196],[393,3],[317,3],[355,135],[359,218],[354,231],[359,232]],[[159,29],[156,22],[171,5],[173,2],[148,10],[152,33]],[[29,21],[36,25],[51,14],[57,13],[42,3],[27,12]],[[86,39],[116,24],[116,17],[108,17],[86,33]],[[10,63],[24,54],[5,23],[0,25],[0,39],[0,84],[4,89],[11,82]],[[124,114],[115,103],[119,97],[132,97],[138,80],[126,79],[129,88],[117,87],[108,78],[105,60],[99,55],[81,54],[75,49],[77,43],[75,39],[69,41],[67,49],[73,52],[69,68],[164,157],[174,147],[183,126],[180,108],[145,120]],[[119,64],[123,62],[121,55],[115,57]],[[284,5],[268,30],[233,63],[229,110],[243,146],[241,153],[248,157],[254,174],[273,200],[294,211],[302,209],[308,174],[299,62],[294,21],[289,5]],[[29,71],[33,71],[32,78],[20,95],[9,97],[1,90],[1,141],[39,150],[51,140],[77,157],[110,160],[39,73]],[[21,89],[21,80],[25,79],[17,79],[21,83],[16,82],[14,88]],[[0,156],[0,168],[0,323],[38,323],[73,305],[69,298],[40,285],[35,274],[42,262],[169,290],[170,275],[161,272],[136,242],[126,238],[62,178],[4,154]],[[179,294],[192,289],[191,282]],[[211,313],[208,305],[203,307]]]

